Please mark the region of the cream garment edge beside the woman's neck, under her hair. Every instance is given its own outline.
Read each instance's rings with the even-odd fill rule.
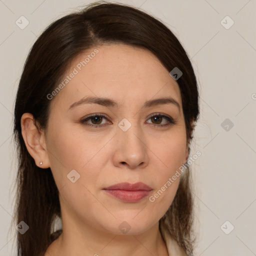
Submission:
[[[178,243],[170,236],[162,224],[159,225],[160,232],[166,244],[169,256],[187,256],[185,251],[178,245]]]

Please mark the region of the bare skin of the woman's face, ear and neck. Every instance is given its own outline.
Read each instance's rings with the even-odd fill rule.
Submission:
[[[158,221],[174,198],[179,177],[154,202],[149,196],[124,202],[103,188],[141,181],[152,187],[153,195],[186,162],[178,84],[146,49],[120,43],[96,48],[99,52],[51,99],[46,130],[36,128],[30,113],[21,118],[27,150],[41,171],[50,167],[59,190],[63,233],[45,256],[168,255]],[[74,59],[65,75],[93,49]],[[87,103],[68,109],[85,96],[108,97],[120,107]],[[167,96],[180,108],[172,103],[142,107],[146,100]],[[80,122],[93,113],[107,119],[85,123],[105,126]],[[150,118],[154,113],[170,116],[176,124],[160,126],[168,120]],[[131,123],[127,131],[118,126],[123,118]],[[72,169],[80,175],[74,183],[67,178]],[[131,227],[125,234],[118,228],[123,221]]]

